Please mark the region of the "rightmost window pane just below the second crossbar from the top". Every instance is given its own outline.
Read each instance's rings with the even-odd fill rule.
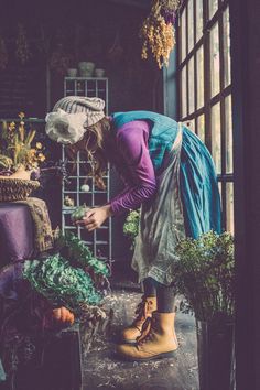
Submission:
[[[231,96],[225,99],[226,112],[226,173],[232,173],[232,111],[231,111]]]

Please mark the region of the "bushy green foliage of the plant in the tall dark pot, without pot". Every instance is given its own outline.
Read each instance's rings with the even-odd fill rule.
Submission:
[[[176,247],[180,257],[174,266],[175,284],[186,303],[184,311],[194,311],[197,319],[218,316],[232,318],[235,301],[234,238],[228,232],[203,234],[186,238]]]

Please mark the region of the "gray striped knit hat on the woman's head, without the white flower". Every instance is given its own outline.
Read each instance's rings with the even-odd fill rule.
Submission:
[[[93,126],[105,117],[105,101],[97,97],[67,96],[56,102],[53,111],[57,111],[58,108],[67,113],[84,112],[86,115],[84,127]]]

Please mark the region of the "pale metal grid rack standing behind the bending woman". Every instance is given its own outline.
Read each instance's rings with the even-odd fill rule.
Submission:
[[[86,77],[65,77],[64,96],[88,96],[100,97],[106,102],[106,113],[108,113],[108,78],[86,78]],[[66,160],[65,148],[62,147],[62,160]],[[106,204],[110,197],[110,166],[108,164],[107,175],[104,177],[107,188],[100,191],[96,187],[94,177],[84,175],[84,167],[89,161],[84,159],[83,153],[77,153],[76,161],[67,161],[74,164],[74,172],[68,176],[69,183],[63,181],[62,184],[62,231],[72,231],[77,235],[86,245],[89,246],[95,257],[111,260],[111,218],[108,219],[99,229],[88,232],[79,226],[74,226],[71,221],[72,212],[86,203],[94,207]],[[82,191],[82,185],[88,183],[89,191]],[[65,196],[74,199],[74,206],[64,205]]]

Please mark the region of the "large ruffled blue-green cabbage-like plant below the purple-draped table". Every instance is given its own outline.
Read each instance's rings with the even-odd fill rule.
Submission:
[[[108,266],[72,232],[55,232],[54,254],[25,261],[23,277],[52,305],[79,315],[98,305],[109,288]]]

